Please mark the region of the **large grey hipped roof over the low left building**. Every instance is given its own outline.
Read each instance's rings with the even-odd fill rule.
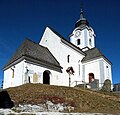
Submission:
[[[19,60],[21,61],[23,59],[42,66],[50,67],[50,69],[62,69],[59,62],[55,59],[48,48],[26,39],[4,66],[3,70],[9,68],[9,66],[13,66],[15,62],[18,63]]]

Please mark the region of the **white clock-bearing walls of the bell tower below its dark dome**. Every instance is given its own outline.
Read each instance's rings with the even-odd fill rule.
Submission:
[[[95,47],[95,34],[91,27],[77,27],[70,35],[70,42],[80,49],[88,47],[89,49]]]

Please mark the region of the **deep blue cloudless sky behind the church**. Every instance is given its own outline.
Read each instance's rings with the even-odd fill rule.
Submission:
[[[119,0],[0,0],[0,83],[2,67],[25,38],[39,42],[46,26],[69,39],[80,16],[96,34],[96,47],[112,62],[113,83],[120,83]]]

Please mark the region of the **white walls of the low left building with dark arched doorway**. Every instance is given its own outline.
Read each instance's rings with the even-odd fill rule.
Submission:
[[[61,85],[59,81],[61,79],[60,72],[23,60],[4,71],[3,88],[15,87],[26,83],[43,83],[43,73],[45,71],[49,72],[50,85]]]

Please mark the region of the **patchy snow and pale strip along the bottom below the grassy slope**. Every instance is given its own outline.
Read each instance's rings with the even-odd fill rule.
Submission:
[[[69,111],[69,113],[63,113],[64,110]],[[112,115],[103,113],[71,113],[74,107],[65,104],[54,104],[51,101],[47,101],[45,104],[38,105],[19,105],[18,107],[13,107],[12,109],[0,109],[0,115]]]

